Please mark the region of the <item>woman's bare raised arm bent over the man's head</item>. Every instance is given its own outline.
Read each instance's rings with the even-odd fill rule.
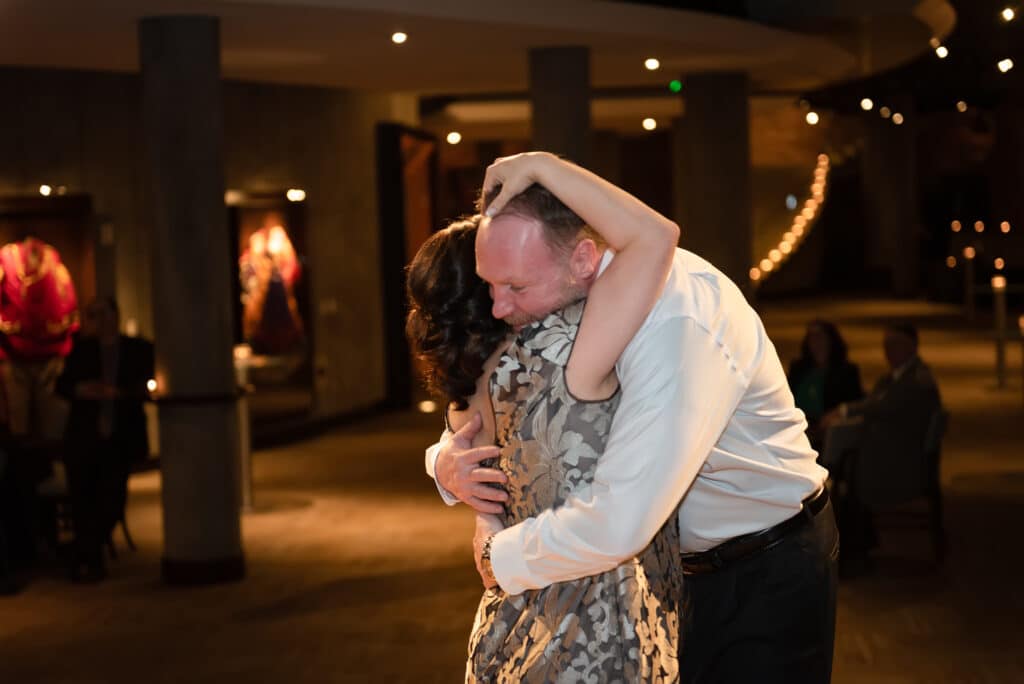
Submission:
[[[622,188],[548,153],[503,158],[487,168],[484,194],[502,184],[487,215],[497,214],[508,200],[535,182],[574,211],[615,252],[590,287],[566,369],[566,380],[577,396],[603,398],[616,386],[615,361],[662,292],[679,227]],[[593,249],[592,241],[584,243]],[[584,246],[581,254],[578,245],[570,259],[585,259],[587,249]],[[591,260],[594,273],[599,257]]]

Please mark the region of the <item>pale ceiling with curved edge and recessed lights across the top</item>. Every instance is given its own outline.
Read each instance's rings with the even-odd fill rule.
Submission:
[[[876,46],[866,63],[867,25],[851,41],[848,17],[786,30],[598,0],[0,0],[0,63],[135,72],[137,20],[174,13],[221,17],[227,78],[417,94],[524,91],[527,51],[555,45],[590,47],[595,87],[741,70],[757,89],[804,90],[910,58],[936,30],[913,11],[888,13],[894,49]],[[389,38],[399,30],[400,46]],[[648,56],[658,72],[644,70]]]

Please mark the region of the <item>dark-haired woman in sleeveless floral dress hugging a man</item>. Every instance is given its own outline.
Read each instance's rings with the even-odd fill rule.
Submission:
[[[495,218],[454,223],[414,259],[408,332],[428,386],[449,402],[450,428],[479,414],[474,444],[500,447],[497,466],[509,498],[499,522],[512,525],[591,485],[618,404],[615,359],[665,283],[678,228],[550,156],[518,156],[496,167],[488,175],[505,190],[492,200]],[[631,220],[604,211],[609,195],[627,203]],[[511,257],[499,264],[501,275],[487,272],[492,282],[483,282],[476,271],[494,268],[476,263],[474,245],[496,239],[503,216],[544,225],[568,217],[568,231],[578,233],[571,243],[590,243],[586,258],[553,246],[518,270]],[[614,259],[600,270],[605,247]],[[511,326],[490,315],[492,288],[522,291],[563,275],[593,279],[588,298],[585,288],[559,286],[565,301],[546,315],[510,316]],[[677,681],[678,558],[673,518],[639,556],[608,571],[518,595],[488,589],[470,637],[466,681]]]

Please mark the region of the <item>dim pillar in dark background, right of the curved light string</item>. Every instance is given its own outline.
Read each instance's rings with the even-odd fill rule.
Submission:
[[[888,98],[892,117],[868,117],[864,135],[864,256],[868,271],[887,272],[897,297],[921,285],[921,214],[915,165],[916,112],[907,96]]]

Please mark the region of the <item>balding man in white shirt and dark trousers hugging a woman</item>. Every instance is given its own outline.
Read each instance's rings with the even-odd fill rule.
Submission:
[[[492,219],[506,244],[539,249],[530,244],[536,218]],[[494,258],[487,249],[478,239],[478,261]],[[566,259],[545,249],[551,263]],[[613,258],[598,254],[601,268]],[[552,310],[538,310],[531,294],[550,293],[552,283],[489,285],[496,317],[521,325]],[[608,570],[678,515],[687,575],[682,680],[828,681],[838,535],[826,473],[757,313],[721,271],[677,250],[616,372],[622,402],[594,482],[565,506],[476,540],[485,584],[493,576],[517,594]],[[479,466],[496,450],[471,448],[473,428],[427,450],[427,472],[447,503],[497,512],[506,495],[488,483],[501,473]]]

